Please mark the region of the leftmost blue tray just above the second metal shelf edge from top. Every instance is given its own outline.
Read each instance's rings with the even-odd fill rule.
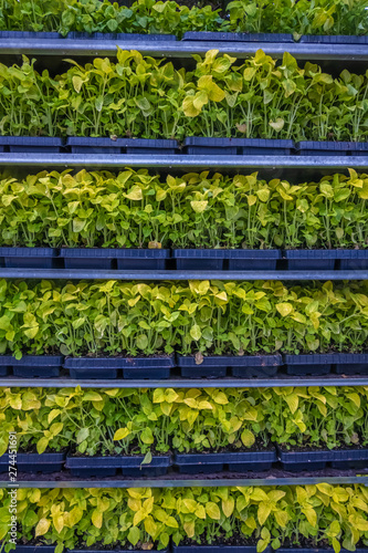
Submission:
[[[3,152],[21,154],[60,154],[63,140],[54,136],[0,136]]]

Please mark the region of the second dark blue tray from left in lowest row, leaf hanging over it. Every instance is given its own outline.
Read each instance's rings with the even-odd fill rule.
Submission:
[[[73,457],[67,456],[65,468],[74,477],[113,477],[122,470],[127,477],[161,477],[171,466],[171,456],[153,456],[149,465],[141,465],[145,456]]]

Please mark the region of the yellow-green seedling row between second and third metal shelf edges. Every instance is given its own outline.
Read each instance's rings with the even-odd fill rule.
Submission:
[[[104,248],[366,248],[368,175],[293,185],[209,171],[85,169],[0,180],[0,244]]]

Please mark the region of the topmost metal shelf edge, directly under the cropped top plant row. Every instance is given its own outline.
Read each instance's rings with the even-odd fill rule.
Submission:
[[[144,55],[157,58],[188,58],[204,54],[213,49],[213,41],[145,41],[93,39],[1,39],[0,55],[32,54],[48,56],[115,56],[116,49],[138,50]],[[285,51],[298,60],[307,61],[368,61],[367,44],[319,44],[281,42],[218,41],[221,53],[245,59],[262,49],[272,58],[281,59]]]

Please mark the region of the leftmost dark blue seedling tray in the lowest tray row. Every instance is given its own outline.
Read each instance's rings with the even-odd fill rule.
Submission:
[[[19,472],[59,472],[63,469],[65,453],[17,453]],[[0,457],[0,472],[9,471],[9,453]]]

